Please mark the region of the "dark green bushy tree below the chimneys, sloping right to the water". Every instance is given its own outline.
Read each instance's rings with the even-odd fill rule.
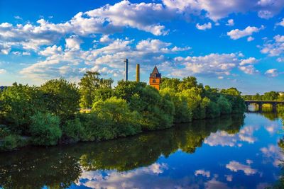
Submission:
[[[155,88],[146,83],[120,81],[115,88],[115,94],[129,103],[131,111],[137,111],[142,116],[143,130],[158,130],[173,125],[173,102],[163,98]]]

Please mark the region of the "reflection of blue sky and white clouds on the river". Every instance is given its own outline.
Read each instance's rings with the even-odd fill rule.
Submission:
[[[71,188],[266,188],[284,160],[280,128],[279,120],[248,114],[239,133],[212,133],[194,154],[176,151],[132,171],[84,171]]]

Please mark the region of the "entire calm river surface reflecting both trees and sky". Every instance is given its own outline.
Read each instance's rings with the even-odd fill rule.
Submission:
[[[0,154],[0,188],[266,188],[279,184],[271,113],[200,120],[136,137]]]

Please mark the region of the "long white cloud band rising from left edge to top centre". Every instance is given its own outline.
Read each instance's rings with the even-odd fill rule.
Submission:
[[[35,24],[0,23],[0,42],[38,51],[41,46],[55,45],[60,39],[70,35],[109,35],[128,27],[153,35],[166,35],[168,30],[165,30],[165,26],[160,25],[160,22],[169,21],[175,16],[176,13],[165,8],[163,4],[131,4],[129,1],[121,1],[92,11],[79,12],[69,21],[62,23],[50,23],[43,18]],[[7,50],[3,52],[6,53]]]

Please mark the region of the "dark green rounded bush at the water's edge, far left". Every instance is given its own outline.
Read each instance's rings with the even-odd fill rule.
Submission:
[[[35,113],[31,117],[29,131],[32,142],[39,146],[52,146],[58,144],[62,132],[60,130],[60,118],[50,113]]]

